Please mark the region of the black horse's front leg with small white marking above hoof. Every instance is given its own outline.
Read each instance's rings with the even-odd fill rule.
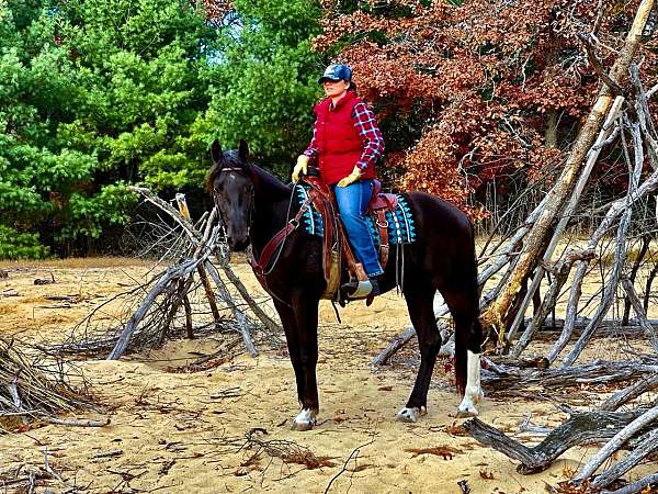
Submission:
[[[316,367],[318,363],[318,299],[308,296],[303,291],[292,297],[296,322],[296,339],[298,343],[299,373],[297,392],[302,409],[293,420],[293,428],[309,430],[316,425],[320,407]]]

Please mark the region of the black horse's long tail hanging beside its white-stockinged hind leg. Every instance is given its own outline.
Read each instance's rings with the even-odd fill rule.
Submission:
[[[483,345],[483,326],[479,321],[479,288],[477,282],[477,259],[475,256],[475,229],[470,223],[470,249],[463,265],[462,311],[455,317],[455,383],[460,395],[466,390],[468,353],[480,353]]]

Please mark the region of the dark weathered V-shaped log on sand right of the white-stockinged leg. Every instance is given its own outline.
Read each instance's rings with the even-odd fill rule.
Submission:
[[[643,414],[642,411],[613,413],[575,413],[559,427],[553,429],[537,446],[529,448],[510,438],[500,429],[478,418],[464,423],[468,435],[490,446],[506,457],[521,462],[517,471],[524,475],[546,470],[560,454],[575,446],[591,445],[614,437],[626,425]]]

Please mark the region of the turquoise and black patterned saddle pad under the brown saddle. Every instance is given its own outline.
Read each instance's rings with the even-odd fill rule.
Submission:
[[[295,200],[302,205],[308,198],[308,187],[302,184],[295,186]],[[413,222],[413,215],[411,214],[411,207],[404,195],[398,194],[398,203],[395,210],[386,211],[386,221],[388,222],[388,243],[394,244],[411,244],[416,240],[416,224]],[[382,244],[379,238],[379,228],[373,222],[373,218],[368,215],[365,217],[365,222],[370,226],[371,235],[375,246]],[[322,224],[322,217],[320,213],[313,206],[308,207],[299,225],[304,227],[305,232],[309,235],[321,237],[325,234],[325,226]]]

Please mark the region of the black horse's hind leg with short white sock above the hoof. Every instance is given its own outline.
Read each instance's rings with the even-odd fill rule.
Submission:
[[[428,390],[436,362],[436,355],[441,348],[441,335],[434,317],[434,293],[430,283],[416,282],[405,285],[405,299],[409,308],[409,317],[418,336],[420,347],[420,369],[416,377],[416,384],[407,402],[407,406],[397,414],[398,420],[416,422],[420,415],[427,413]]]

